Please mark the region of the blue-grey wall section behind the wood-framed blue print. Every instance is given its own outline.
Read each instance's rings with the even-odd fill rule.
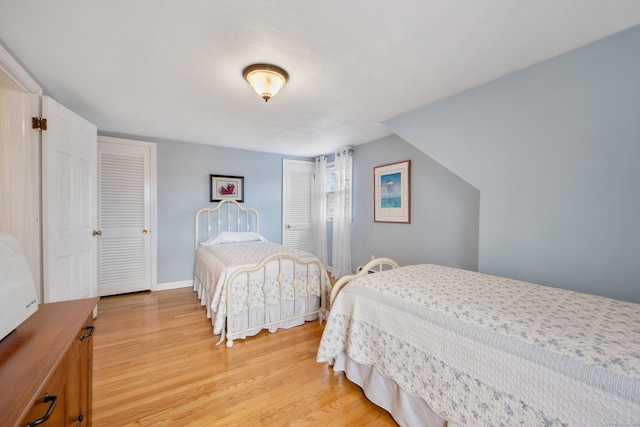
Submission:
[[[398,136],[354,149],[351,259],[478,268],[479,191]],[[373,168],[411,161],[411,223],[373,221]]]

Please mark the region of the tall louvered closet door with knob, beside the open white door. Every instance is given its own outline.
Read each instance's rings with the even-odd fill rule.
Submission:
[[[149,149],[99,142],[100,296],[151,289]]]

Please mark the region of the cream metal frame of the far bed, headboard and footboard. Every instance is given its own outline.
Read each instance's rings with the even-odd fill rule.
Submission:
[[[226,211],[226,212],[225,212]],[[195,225],[194,225],[194,233],[195,233],[195,250],[198,249],[198,245],[200,244],[200,241],[202,240],[206,240],[206,239],[201,239],[200,238],[200,227],[201,227],[201,216],[202,215],[206,215],[206,231],[207,231],[207,239],[209,237],[211,237],[212,234],[212,226],[211,226],[211,220],[213,217],[214,223],[216,225],[216,233],[221,232],[221,231],[254,231],[256,233],[259,232],[260,229],[260,224],[259,224],[259,215],[258,212],[253,209],[253,208],[243,208],[242,206],[240,206],[238,204],[238,202],[236,202],[235,200],[223,200],[220,203],[218,203],[217,206],[213,207],[213,208],[202,208],[200,209],[198,212],[196,212],[195,215]],[[224,215],[224,216],[223,216]],[[254,225],[254,228],[252,229],[252,224]],[[283,318],[283,313],[284,313],[284,304],[285,302],[282,299],[282,295],[283,295],[283,284],[284,284],[284,273],[283,273],[283,265],[285,263],[291,263],[292,265],[292,277],[293,277],[293,291],[294,291],[294,297],[293,297],[293,316],[289,316],[286,318]],[[278,320],[273,320],[273,321],[269,321],[268,320],[268,303],[267,303],[267,266],[271,265],[273,266],[273,263],[277,263],[277,268],[278,268],[278,284],[279,284],[279,294],[280,294],[280,298],[279,298],[279,312],[280,312],[280,316]],[[320,280],[320,307],[317,310],[312,310],[312,303],[311,303],[311,283],[310,283],[310,279],[311,279],[311,270],[312,267],[316,266],[319,272],[319,280]],[[272,267],[273,268],[273,267]],[[305,309],[304,309],[304,313],[298,313],[298,282],[297,282],[297,278],[296,278],[296,273],[298,272],[298,270],[302,268],[302,269],[306,269],[306,277],[307,277],[307,283],[306,283],[306,305],[305,305]],[[260,272],[262,270],[262,275],[264,278],[264,286],[262,288],[262,292],[264,295],[264,322],[262,324],[258,324],[258,325],[251,325],[250,324],[250,315],[251,312],[250,310],[247,310],[247,324],[249,325],[248,328],[244,328],[244,329],[240,329],[240,330],[233,330],[233,299],[232,299],[232,286],[231,284],[234,282],[234,280],[237,277],[240,277],[241,275],[246,275],[247,280],[249,280],[249,277],[252,273],[257,273]],[[319,259],[317,258],[300,258],[298,256],[296,256],[295,254],[293,254],[292,252],[278,252],[275,254],[272,254],[268,257],[266,257],[265,259],[263,259],[260,263],[258,263],[257,265],[253,265],[253,266],[248,266],[248,267],[242,267],[239,268],[235,271],[233,271],[231,274],[229,274],[229,276],[226,278],[225,280],[225,291],[226,291],[226,331],[223,331],[223,333],[221,334],[220,337],[220,341],[218,342],[218,344],[220,344],[222,341],[224,341],[225,339],[225,335],[226,335],[226,339],[227,339],[227,347],[232,347],[233,346],[233,340],[236,337],[240,337],[242,336],[244,333],[249,332],[249,331],[253,331],[256,329],[267,329],[270,326],[273,325],[278,325],[281,324],[283,322],[288,322],[288,321],[293,321],[296,319],[300,319],[300,318],[306,318],[308,316],[312,316],[317,314],[319,317],[320,322],[322,322],[325,318],[326,318],[326,295],[327,295],[327,283],[326,283],[326,275],[323,274],[323,272],[325,272],[324,266],[322,265],[322,263],[320,262]],[[250,292],[247,292],[247,300],[246,300],[246,304],[247,307],[251,307],[251,294]]]

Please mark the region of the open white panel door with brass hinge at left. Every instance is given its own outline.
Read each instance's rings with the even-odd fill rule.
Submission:
[[[97,129],[42,97],[44,301],[97,296]]]

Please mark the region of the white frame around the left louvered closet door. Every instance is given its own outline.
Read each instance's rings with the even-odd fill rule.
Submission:
[[[157,183],[157,161],[156,161],[156,144],[153,142],[147,142],[147,141],[139,141],[139,140],[135,140],[135,139],[125,139],[125,138],[114,138],[114,137],[110,137],[110,136],[100,136],[98,135],[98,146],[100,145],[100,142],[108,142],[108,143],[112,143],[112,144],[122,144],[122,145],[132,145],[132,146],[137,146],[137,147],[145,147],[148,148],[150,151],[150,156],[149,156],[149,175],[151,178],[151,182],[149,183],[150,188],[149,188],[149,194],[150,194],[150,203],[151,206],[149,207],[151,209],[150,212],[150,221],[151,224],[149,224],[149,227],[151,229],[151,233],[149,233],[149,244],[151,245],[151,259],[150,259],[150,263],[151,263],[151,291],[157,291],[158,290],[158,227],[157,227],[157,220],[158,220],[158,215],[157,215],[157,187],[158,187],[158,183]],[[99,214],[99,213],[98,213]],[[98,249],[99,250],[99,249]],[[98,260],[100,259],[100,257],[98,256]],[[100,268],[98,266],[98,268]]]

